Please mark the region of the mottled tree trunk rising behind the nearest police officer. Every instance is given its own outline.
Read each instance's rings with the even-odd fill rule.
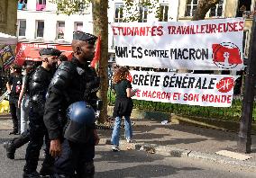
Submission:
[[[98,97],[103,101],[103,110],[100,112],[99,122],[104,123],[107,116],[107,64],[108,64],[108,1],[92,1],[94,33],[101,36],[101,51],[99,60],[100,90]]]

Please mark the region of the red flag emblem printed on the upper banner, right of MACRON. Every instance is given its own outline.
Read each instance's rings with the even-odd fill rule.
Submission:
[[[212,48],[215,62],[225,62],[227,59],[229,64],[242,64],[238,48],[229,49],[221,44],[213,44]]]

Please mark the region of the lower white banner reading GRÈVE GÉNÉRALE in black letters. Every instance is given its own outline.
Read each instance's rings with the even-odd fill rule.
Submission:
[[[238,76],[131,71],[133,99],[188,105],[230,107]]]

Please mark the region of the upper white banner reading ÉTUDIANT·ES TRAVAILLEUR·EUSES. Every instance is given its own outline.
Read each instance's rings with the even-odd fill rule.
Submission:
[[[130,67],[241,70],[242,18],[113,23],[116,63]]]

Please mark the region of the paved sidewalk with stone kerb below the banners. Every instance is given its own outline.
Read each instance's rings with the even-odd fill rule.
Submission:
[[[156,152],[166,156],[188,156],[194,158],[207,159],[219,163],[230,165],[242,165],[256,168],[256,136],[251,136],[252,146],[251,159],[239,161],[233,158],[218,156],[215,152],[220,150],[235,151],[238,136],[237,133],[205,129],[194,126],[180,124],[162,125],[159,120],[133,119],[133,139],[135,143],[127,144],[121,142],[121,148],[126,147]],[[123,137],[122,130],[122,139]],[[102,141],[110,144],[112,130],[100,130]]]

